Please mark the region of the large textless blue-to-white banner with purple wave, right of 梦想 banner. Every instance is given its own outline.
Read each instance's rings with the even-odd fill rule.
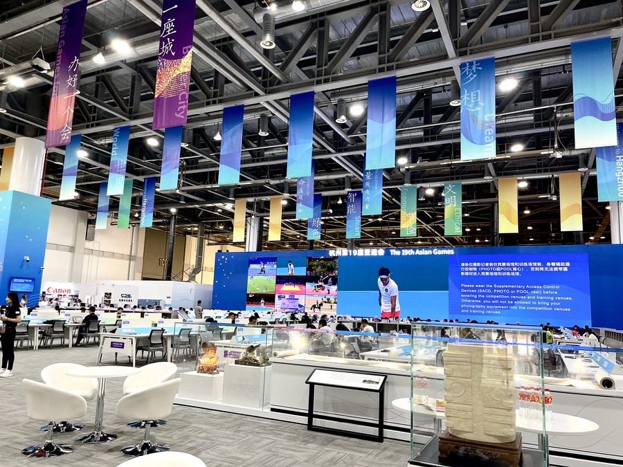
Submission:
[[[572,42],[571,63],[575,148],[616,145],[610,37]]]

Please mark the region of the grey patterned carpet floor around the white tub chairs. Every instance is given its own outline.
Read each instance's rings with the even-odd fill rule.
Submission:
[[[115,414],[116,402],[122,396],[123,378],[107,381],[104,429],[119,435],[116,441],[104,444],[82,444],[74,441],[77,434],[57,434],[55,440],[72,443],[70,455],[49,459],[28,459],[21,449],[44,441],[42,425],[26,416],[26,401],[21,380],[41,381],[43,367],[57,362],[94,365],[96,346],[73,349],[18,349],[12,378],[0,378],[0,466],[117,466],[129,459],[120,448],[137,443],[143,431],[129,428],[129,420]],[[105,362],[114,363],[114,362]],[[95,401],[89,401],[87,416],[80,420],[93,429]],[[152,430],[152,441],[170,444],[172,450],[189,452],[203,459],[208,466],[237,467],[386,467],[406,466],[409,445],[386,440],[373,443],[308,432],[305,425],[259,419],[251,416],[216,412],[175,405],[167,417],[168,424]]]

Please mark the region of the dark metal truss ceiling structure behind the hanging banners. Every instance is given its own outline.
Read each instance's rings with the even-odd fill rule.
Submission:
[[[0,91],[8,94],[0,113],[0,147],[17,136],[44,138],[51,75],[22,66],[23,87],[7,77],[34,55],[53,62],[62,6],[71,0],[8,0],[0,5]],[[291,0],[271,10],[247,0],[197,0],[188,109],[188,146],[182,148],[179,190],[157,192],[156,226],[177,209],[178,229],[204,223],[206,237],[231,241],[234,199],[246,198],[249,215],[267,217],[270,196],[294,192],[285,178],[289,96],[314,90],[316,192],[323,194],[323,240],[314,248],[345,248],[347,187],[361,187],[365,152],[368,80],[396,75],[396,157],[408,161],[384,171],[383,214],[364,218],[353,248],[377,246],[467,246],[497,244],[497,178],[516,176],[520,189],[520,233],[501,235],[501,245],[572,244],[610,241],[609,216],[597,203],[595,151],[576,150],[573,134],[570,44],[610,35],[618,108],[623,98],[622,0],[431,0],[415,11],[405,0]],[[89,0],[82,40],[80,95],[73,130],[89,157],[80,160],[71,208],[96,211],[98,184],[108,176],[112,129],[132,125],[127,173],[135,194],[146,176],[159,174],[161,150],[147,145],[152,111],[161,1]],[[276,47],[263,49],[262,15],[275,18]],[[119,53],[111,40],[127,39]],[[93,57],[102,53],[104,64]],[[39,55],[40,56],[40,55]],[[497,156],[460,160],[459,107],[449,103],[451,82],[465,59],[496,57],[496,76],[517,86],[496,95]],[[347,122],[336,123],[338,99],[347,102]],[[364,108],[352,115],[354,104]],[[241,183],[217,185],[222,110],[245,104]],[[260,115],[269,116],[269,135],[258,135]],[[523,149],[512,152],[513,145]],[[554,149],[556,152],[554,153]],[[57,199],[62,149],[48,151],[44,196]],[[559,157],[557,157],[557,155]],[[584,230],[560,232],[558,178],[582,173]],[[485,171],[487,177],[485,177]],[[489,178],[489,175],[491,178]],[[407,180],[405,180],[407,178]],[[399,237],[399,188],[432,187],[418,202],[419,237]],[[464,235],[444,237],[443,184],[462,181]],[[232,189],[233,188],[233,189]],[[118,200],[112,199],[111,212]],[[133,200],[138,210],[140,196]],[[281,242],[264,249],[307,248],[307,221],[295,219],[295,203],[283,206]],[[525,212],[524,212],[525,210]],[[523,212],[523,214],[521,214]],[[267,229],[266,229],[267,230]]]

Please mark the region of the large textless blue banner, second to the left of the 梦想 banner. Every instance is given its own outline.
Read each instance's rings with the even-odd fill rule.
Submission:
[[[300,178],[314,174],[313,167],[311,167],[311,141],[313,139],[314,91],[291,95],[286,178]]]

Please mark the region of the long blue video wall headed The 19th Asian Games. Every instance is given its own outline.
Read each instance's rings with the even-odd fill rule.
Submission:
[[[617,264],[620,245],[217,253],[213,306],[380,318],[388,268],[400,318],[623,329]]]

